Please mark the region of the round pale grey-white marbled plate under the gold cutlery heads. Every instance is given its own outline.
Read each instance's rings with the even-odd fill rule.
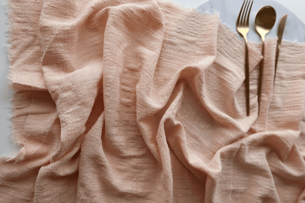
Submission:
[[[242,0],[210,0],[199,6],[196,10],[202,13],[218,13],[220,20],[227,24],[234,32],[237,32],[235,27],[236,20],[242,3]],[[297,41],[305,43],[305,25],[303,22],[287,8],[271,0],[254,0],[249,19],[250,31],[247,35],[249,41],[261,42],[258,33],[255,31],[254,21],[257,12],[264,6],[271,6],[277,12],[276,23],[271,31],[267,33],[266,38],[275,38],[277,36],[280,19],[283,15],[288,14],[282,39],[291,42]]]

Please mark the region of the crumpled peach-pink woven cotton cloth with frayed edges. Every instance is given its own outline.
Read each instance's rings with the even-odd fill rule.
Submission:
[[[156,0],[10,0],[0,202],[305,202],[305,45]]]

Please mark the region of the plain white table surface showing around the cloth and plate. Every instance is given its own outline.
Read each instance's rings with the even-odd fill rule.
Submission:
[[[102,0],[101,0],[102,1]],[[238,2],[240,6],[243,0],[224,0]],[[255,0],[254,0],[255,1]],[[7,1],[0,0],[0,156],[16,156],[20,146],[14,145],[10,138],[10,100],[12,91],[8,89],[8,56],[7,56],[7,8],[4,5]],[[207,0],[174,0],[174,3],[185,8],[198,8]],[[305,1],[304,0],[276,0],[292,13],[294,13],[305,24]],[[238,8],[239,9],[239,8]]]

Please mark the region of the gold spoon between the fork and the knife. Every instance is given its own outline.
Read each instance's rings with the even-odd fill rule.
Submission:
[[[265,6],[261,8],[255,17],[255,29],[259,33],[262,39],[262,55],[264,56],[264,41],[265,35],[272,29],[277,19],[277,13],[275,9],[270,6]],[[263,77],[263,63],[264,58],[262,58],[259,68],[259,82],[258,82],[258,104],[260,103],[260,94],[262,90],[262,77]]]

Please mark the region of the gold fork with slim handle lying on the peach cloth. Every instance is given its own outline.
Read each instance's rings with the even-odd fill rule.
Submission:
[[[250,6],[250,9],[249,9],[250,3],[251,3],[251,6]],[[246,0],[243,1],[242,7],[240,9],[240,12],[239,12],[239,15],[238,15],[238,18],[237,18],[237,21],[236,21],[236,29],[237,29],[238,33],[240,35],[242,35],[243,39],[245,39],[245,44],[246,44],[246,63],[245,63],[245,69],[246,69],[246,106],[247,106],[247,116],[250,115],[249,54],[248,54],[248,44],[247,44],[247,33],[249,32],[249,16],[250,16],[250,11],[251,11],[251,8],[252,8],[252,4],[253,4],[253,1],[248,1],[248,0],[247,0],[247,2],[246,2]],[[247,10],[246,10],[246,8],[247,8]],[[249,9],[249,11],[248,11],[248,9]]]

